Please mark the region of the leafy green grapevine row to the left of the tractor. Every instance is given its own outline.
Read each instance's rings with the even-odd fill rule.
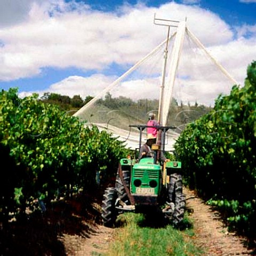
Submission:
[[[85,127],[38,95],[20,99],[17,89],[0,92],[1,219],[25,213],[35,201],[47,206],[93,188],[96,172],[114,175],[124,154],[111,134]]]

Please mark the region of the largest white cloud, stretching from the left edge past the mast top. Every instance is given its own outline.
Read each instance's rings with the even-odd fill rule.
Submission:
[[[206,44],[228,42],[233,36],[217,15],[198,6],[126,6],[119,14],[82,4],[72,9],[72,3],[33,2],[26,19],[0,29],[0,80],[35,76],[43,67],[100,70],[113,62],[134,63],[166,36],[165,28],[153,25],[155,12],[163,18],[170,18],[170,13],[178,20],[188,17],[188,26]],[[198,17],[204,20],[203,26],[197,26]],[[217,33],[221,36],[212,36]]]

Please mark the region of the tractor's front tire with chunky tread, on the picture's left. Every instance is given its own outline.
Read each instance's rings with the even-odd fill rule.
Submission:
[[[107,188],[103,195],[102,201],[102,221],[106,227],[113,227],[117,218],[117,211],[115,209],[115,203],[117,199],[117,193],[115,188]]]

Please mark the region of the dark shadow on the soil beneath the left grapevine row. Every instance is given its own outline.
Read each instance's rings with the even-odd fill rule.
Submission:
[[[44,214],[35,212],[7,225],[0,223],[1,256],[74,255],[76,241],[65,243],[65,237],[95,234],[100,221],[97,205],[95,198],[83,195],[55,202]]]

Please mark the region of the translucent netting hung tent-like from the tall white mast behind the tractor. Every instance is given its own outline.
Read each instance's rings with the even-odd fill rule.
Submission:
[[[146,125],[148,114],[159,114],[161,85],[164,82],[164,106],[162,113],[166,126],[175,126],[167,131],[165,149],[173,150],[179,134],[188,123],[208,113],[219,94],[227,94],[234,80],[223,74],[217,61],[207,55],[197,38],[186,29],[181,46],[177,70],[171,70],[175,38],[170,36],[164,70],[166,42],[158,45],[145,58],[127,68],[126,73],[109,84],[94,99],[77,111],[75,116],[107,130],[125,142],[127,148],[138,148],[139,130],[130,125]],[[124,49],[125,51],[125,49]],[[172,73],[175,82],[171,85]],[[100,86],[100,85],[99,85]],[[146,129],[142,142],[146,141]]]

